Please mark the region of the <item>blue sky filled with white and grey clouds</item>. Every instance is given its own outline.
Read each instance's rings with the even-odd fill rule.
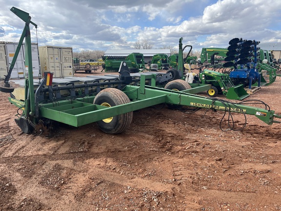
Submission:
[[[153,48],[179,39],[195,50],[228,46],[232,38],[281,42],[281,0],[0,0],[0,41],[18,42],[24,22],[14,6],[38,25],[39,46],[73,51]],[[36,30],[31,26],[32,42]]]

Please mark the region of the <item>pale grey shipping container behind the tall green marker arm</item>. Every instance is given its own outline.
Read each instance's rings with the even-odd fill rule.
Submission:
[[[10,65],[15,56],[16,49],[18,47],[18,42],[0,42],[0,78],[5,78],[8,74]],[[31,43],[32,52],[32,67],[33,76],[39,77],[39,55],[38,55],[38,45],[37,43]],[[24,43],[21,45],[20,52],[14,68],[11,73],[10,78],[24,78],[25,76],[25,64],[24,64]]]

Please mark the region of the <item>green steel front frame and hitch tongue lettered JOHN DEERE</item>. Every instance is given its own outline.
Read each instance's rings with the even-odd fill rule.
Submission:
[[[141,86],[127,85],[122,91],[131,99],[131,103],[105,107],[81,102],[83,98],[80,98],[61,102],[61,104],[65,103],[66,105],[56,106],[53,103],[40,105],[40,116],[79,127],[130,111],[166,103],[251,114],[268,125],[272,125],[274,117],[280,118],[280,116],[274,114],[274,111],[239,104],[229,104],[229,106],[225,107],[225,104],[221,101],[214,101],[213,99],[185,93],[184,91],[168,91],[163,88],[147,85],[144,88]],[[88,100],[88,98],[86,99]]]

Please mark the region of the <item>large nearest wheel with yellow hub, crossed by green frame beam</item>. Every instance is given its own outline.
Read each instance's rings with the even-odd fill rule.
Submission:
[[[130,103],[128,96],[116,88],[106,88],[100,91],[94,99],[93,104],[116,106]],[[97,123],[100,130],[109,134],[117,134],[123,132],[130,126],[133,120],[133,111],[120,114],[111,118],[100,120]]]

